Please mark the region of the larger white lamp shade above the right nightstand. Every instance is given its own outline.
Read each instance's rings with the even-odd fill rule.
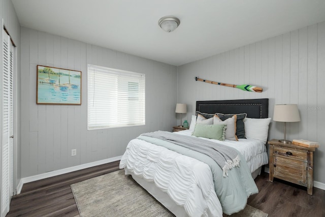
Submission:
[[[297,104],[281,104],[274,106],[273,120],[281,122],[300,121]]]

